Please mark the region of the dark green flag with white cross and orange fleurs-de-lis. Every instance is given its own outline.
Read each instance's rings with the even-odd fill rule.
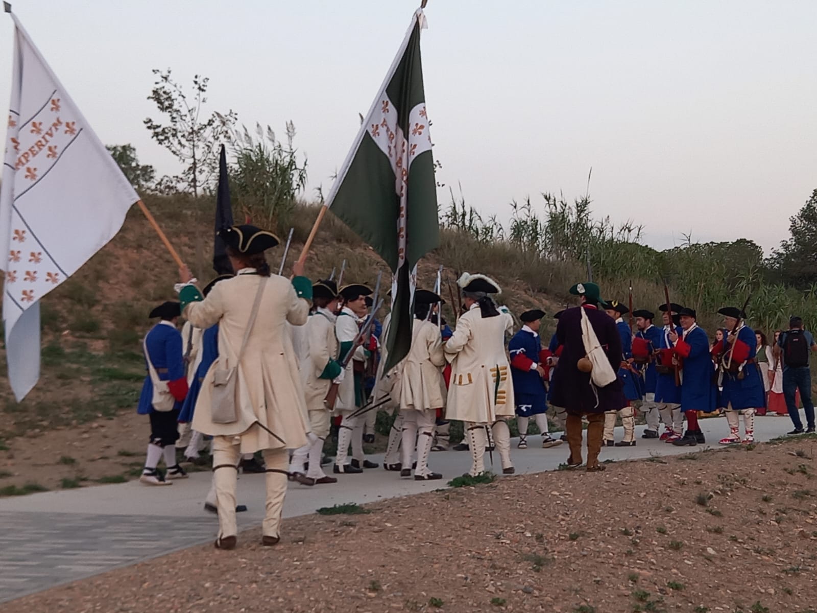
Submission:
[[[408,354],[417,261],[440,244],[420,59],[425,27],[418,9],[326,203],[394,273],[384,372]]]

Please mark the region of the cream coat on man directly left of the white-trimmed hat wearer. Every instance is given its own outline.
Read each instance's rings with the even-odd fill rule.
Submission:
[[[430,321],[414,320],[411,348],[401,363],[400,409],[441,409],[445,406],[445,365],[440,329]]]

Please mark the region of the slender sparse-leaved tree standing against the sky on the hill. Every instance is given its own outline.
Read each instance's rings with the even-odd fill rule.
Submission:
[[[208,186],[215,177],[217,146],[230,136],[236,114],[213,112],[208,119],[201,119],[203,106],[207,104],[209,79],[196,74],[193,77],[193,93],[188,97],[179,83],[171,78],[171,70],[154,69],[158,75],[148,100],[156,103],[158,111],[167,117],[167,123],[145,119],[145,128],[159,145],[165,147],[184,165],[181,177],[174,177],[182,190],[194,196]]]

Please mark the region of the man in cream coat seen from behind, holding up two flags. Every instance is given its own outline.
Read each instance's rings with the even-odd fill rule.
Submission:
[[[301,374],[287,323],[306,324],[312,284],[303,264],[292,267],[292,282],[270,275],[264,257],[279,244],[270,232],[256,226],[234,226],[219,233],[235,276],[221,281],[204,298],[190,284],[190,271],[180,271],[179,296],[187,320],[197,328],[218,324],[218,358],[205,375],[193,416],[193,428],[213,436],[213,480],[216,485],[219,535],[216,547],[232,549],[235,523],[235,486],[239,455],[261,451],[266,462],[266,517],[261,544],[279,542],[283,498],[287,491],[288,450],[306,445],[306,418]],[[248,327],[253,308],[257,315]],[[246,345],[244,343],[246,342]],[[239,352],[243,354],[239,361]],[[234,369],[234,420],[213,419],[213,382],[217,371]]]

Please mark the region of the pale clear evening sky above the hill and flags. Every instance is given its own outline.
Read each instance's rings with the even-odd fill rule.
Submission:
[[[100,139],[176,173],[142,124],[153,68],[210,78],[212,110],[269,123],[339,168],[417,0],[17,0],[14,11]],[[430,0],[422,53],[438,179],[510,217],[511,199],[586,188],[645,242],[766,250],[817,187],[814,0]],[[0,104],[11,19],[0,16]],[[440,200],[449,200],[448,187]]]

